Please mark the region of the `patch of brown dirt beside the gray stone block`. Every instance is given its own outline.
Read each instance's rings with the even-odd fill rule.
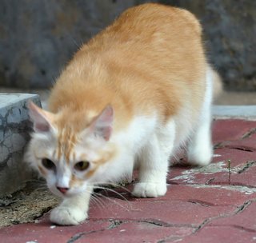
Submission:
[[[45,181],[30,181],[21,191],[0,199],[0,228],[36,222],[38,217],[53,209],[59,201],[47,189]]]

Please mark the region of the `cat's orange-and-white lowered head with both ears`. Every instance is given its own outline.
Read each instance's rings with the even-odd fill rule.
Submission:
[[[114,120],[111,106],[85,118],[89,121],[84,123],[77,121],[79,116],[68,122],[74,116],[72,111],[70,115],[62,111],[52,114],[32,102],[29,109],[34,133],[26,160],[46,178],[53,193],[69,197],[106,177],[116,152],[110,141]]]

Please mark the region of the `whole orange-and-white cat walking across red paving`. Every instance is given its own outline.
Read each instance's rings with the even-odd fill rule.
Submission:
[[[49,111],[29,104],[26,160],[63,198],[50,221],[86,220],[94,186],[130,177],[135,161],[134,197],[166,193],[169,158],[185,144],[190,164],[208,165],[215,86],[202,28],[187,10],[135,6],[91,38],[54,84]]]

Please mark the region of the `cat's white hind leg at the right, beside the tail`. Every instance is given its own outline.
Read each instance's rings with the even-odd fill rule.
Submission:
[[[198,126],[190,137],[187,149],[188,161],[192,165],[208,165],[213,155],[211,141],[212,75],[212,70],[209,68],[206,74],[206,94],[199,116]]]

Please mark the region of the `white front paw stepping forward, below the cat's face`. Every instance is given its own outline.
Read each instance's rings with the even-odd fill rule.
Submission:
[[[58,206],[50,212],[50,221],[57,225],[78,225],[84,221],[87,213],[78,208]]]

